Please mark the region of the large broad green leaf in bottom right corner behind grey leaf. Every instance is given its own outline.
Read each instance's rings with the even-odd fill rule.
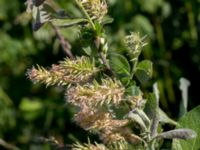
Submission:
[[[190,140],[173,140],[173,150],[198,150],[200,149],[200,106],[186,113],[179,121],[177,128],[189,128],[197,133],[195,139]],[[178,149],[179,148],[179,149]]]

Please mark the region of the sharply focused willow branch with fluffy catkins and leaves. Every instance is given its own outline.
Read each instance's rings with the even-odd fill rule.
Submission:
[[[46,69],[36,65],[27,75],[34,83],[65,86],[66,103],[77,108],[74,121],[99,136],[100,143],[76,142],[73,150],[160,149],[164,139],[192,139],[196,132],[188,128],[164,131],[163,124],[178,127],[159,108],[159,90],[141,90],[153,73],[150,60],[139,59],[146,36],[130,32],[124,37],[125,54],[113,52],[105,26],[113,21],[107,15],[105,0],[74,0],[80,16],[69,16],[53,1],[27,0],[27,12],[33,16],[33,30],[50,25],[67,54],[58,64]],[[81,56],[74,56],[61,28],[78,27]],[[63,30],[62,30],[63,31]],[[177,143],[177,142],[176,142]],[[181,146],[174,143],[174,147]],[[59,146],[59,143],[56,143]],[[66,143],[67,144],[67,143]],[[180,148],[180,147],[179,147]]]

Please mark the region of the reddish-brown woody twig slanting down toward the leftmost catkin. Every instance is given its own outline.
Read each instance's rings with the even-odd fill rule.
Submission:
[[[54,26],[52,23],[50,25],[55,30],[64,52],[69,56],[70,59],[74,59],[74,56],[71,52],[71,45],[69,44],[69,42],[66,41],[64,36],[60,34],[58,27]]]

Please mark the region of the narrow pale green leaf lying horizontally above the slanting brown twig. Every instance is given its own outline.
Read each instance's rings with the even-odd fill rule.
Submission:
[[[71,27],[77,24],[85,23],[87,22],[87,20],[83,18],[76,18],[76,19],[64,18],[64,19],[52,19],[50,20],[50,22],[52,22],[53,25],[59,27]]]

